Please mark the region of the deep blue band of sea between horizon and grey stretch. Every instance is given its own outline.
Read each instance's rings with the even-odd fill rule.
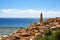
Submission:
[[[39,22],[39,18],[0,18],[0,27],[28,27],[31,21]]]

